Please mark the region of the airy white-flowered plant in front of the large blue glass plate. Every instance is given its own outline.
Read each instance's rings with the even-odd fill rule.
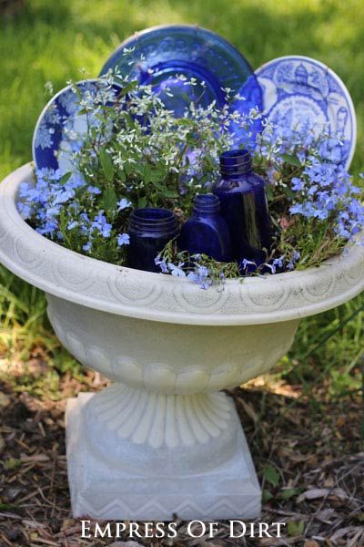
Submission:
[[[101,167],[109,171],[114,186],[128,195],[134,192],[135,205],[151,201],[150,195],[153,201],[154,193],[163,201],[173,192],[187,195],[208,188],[217,175],[221,151],[237,146],[236,132],[245,132],[248,139],[249,127],[258,118],[254,111],[243,115],[231,108],[229,89],[224,90],[227,100],[222,107],[216,101],[204,106],[203,91],[178,118],[151,85],[111,71],[101,80],[97,93],[86,91],[79,101],[89,128],[73,160],[95,181],[100,175],[98,159],[105,150],[107,159]],[[182,86],[196,85],[184,75],[175,80]],[[173,95],[167,87],[163,94]],[[158,199],[154,201],[157,205]]]

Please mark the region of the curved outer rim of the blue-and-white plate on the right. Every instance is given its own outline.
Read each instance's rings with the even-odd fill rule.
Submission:
[[[302,55],[288,55],[288,56],[276,57],[274,59],[271,59],[267,63],[264,63],[263,65],[258,67],[257,70],[255,71],[255,74],[258,78],[258,83],[259,83],[259,77],[262,77],[264,71],[266,71],[270,67],[273,67],[274,65],[278,65],[279,63],[286,62],[286,61],[302,61],[302,62],[305,61],[309,65],[319,67],[322,70],[324,70],[325,73],[327,73],[330,77],[332,77],[338,84],[340,90],[342,91],[343,96],[346,98],[346,101],[348,103],[350,120],[351,120],[351,138],[349,139],[349,147],[350,147],[349,155],[347,159],[345,160],[345,166],[347,169],[349,169],[350,163],[355,153],[355,148],[357,143],[357,116],[356,116],[353,100],[349,94],[348,88],[346,87],[342,79],[338,76],[338,74],[336,74],[336,72],[332,68],[328,67],[328,65],[325,65],[325,63],[322,63],[321,61],[313,57],[307,57]],[[266,112],[266,108],[264,105],[264,93],[262,93],[262,101],[263,101],[263,113],[267,115],[268,113]],[[272,108],[270,108],[270,110]]]

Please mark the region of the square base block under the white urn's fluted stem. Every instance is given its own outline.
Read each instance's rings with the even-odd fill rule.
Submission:
[[[107,465],[105,459],[87,449],[83,408],[93,394],[80,394],[67,401],[66,450],[68,480],[74,517],[103,520],[211,521],[254,519],[259,516],[261,490],[241,428],[238,424],[238,449],[215,470],[166,478],[163,470],[155,476],[131,475]],[[112,434],[112,433],[110,433]],[[121,439],[120,442],[123,442]]]

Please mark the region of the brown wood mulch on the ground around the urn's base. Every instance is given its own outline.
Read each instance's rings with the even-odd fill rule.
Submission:
[[[265,503],[258,521],[284,522],[279,539],[235,539],[224,521],[218,522],[213,539],[207,534],[191,537],[183,521],[177,522],[175,540],[130,539],[127,533],[117,540],[82,539],[80,521],[70,513],[64,409],[66,397],[104,385],[93,373],[85,378],[66,375],[58,401],[0,383],[0,547],[132,547],[132,541],[156,547],[364,545],[360,398],[336,403],[315,394],[298,398],[294,387],[275,393],[265,387],[238,388],[232,394],[263,484]],[[192,532],[199,535],[197,523]]]

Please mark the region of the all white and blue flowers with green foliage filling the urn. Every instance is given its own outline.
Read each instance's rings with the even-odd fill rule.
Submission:
[[[116,94],[110,82],[130,88],[127,76],[112,71],[85,96],[73,83],[87,130],[81,149],[71,155],[72,176],[66,173],[59,181],[55,172],[35,170],[35,188],[33,183],[22,188],[19,208],[25,205],[27,222],[52,241],[77,253],[123,264],[130,212],[145,205],[163,207],[178,211],[185,219],[196,194],[211,191],[217,180],[218,156],[237,146],[231,124],[248,129],[258,113],[252,109],[248,116],[240,115],[230,112],[227,105],[217,108],[215,103],[204,108],[198,98],[177,119],[151,86],[132,82],[133,91],[126,95],[125,91]],[[277,137],[274,127],[265,124],[254,161],[269,182],[275,237],[263,263],[240,258],[244,276],[265,274],[268,268],[276,274],[277,270],[293,270],[297,264],[299,269],[319,265],[338,254],[350,234],[359,230],[364,219],[360,189],[333,163],[340,146],[328,135],[297,134],[292,139],[288,131]],[[59,158],[65,155],[70,160],[68,151],[57,152]],[[24,213],[24,209],[19,211]],[[179,275],[173,263],[170,267],[163,260],[167,264],[164,273]],[[187,256],[177,253],[176,260],[190,271]],[[210,284],[218,278],[221,283],[226,277],[239,276],[236,263],[220,267],[208,257],[199,257],[194,265],[199,272],[202,265],[210,266]],[[203,288],[207,288],[206,277]]]

